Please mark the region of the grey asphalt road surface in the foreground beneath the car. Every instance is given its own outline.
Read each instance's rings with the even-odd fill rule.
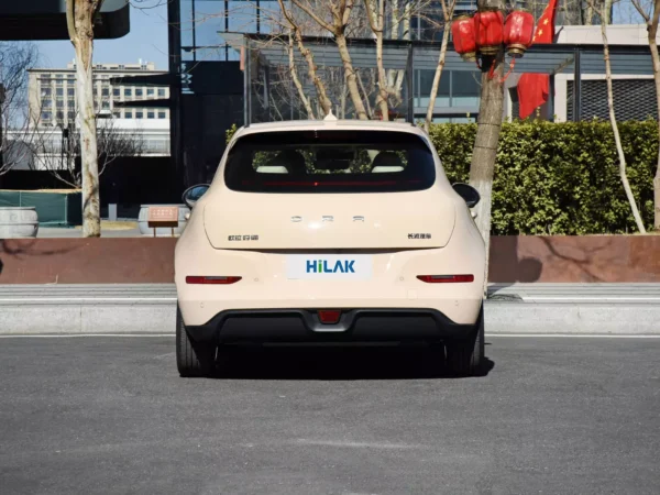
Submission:
[[[0,339],[0,493],[657,494],[660,339],[490,337],[485,377],[397,349]]]

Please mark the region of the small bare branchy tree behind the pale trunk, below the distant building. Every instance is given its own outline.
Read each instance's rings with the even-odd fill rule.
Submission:
[[[80,130],[75,121],[68,125],[38,128],[34,132],[33,168],[50,172],[69,187],[80,189],[85,175],[81,167]],[[119,157],[140,156],[144,153],[144,136],[134,129],[121,129],[114,119],[102,119],[97,125],[97,163],[99,177]]]

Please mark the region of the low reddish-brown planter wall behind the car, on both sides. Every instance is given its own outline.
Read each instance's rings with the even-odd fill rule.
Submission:
[[[3,239],[0,284],[158,284],[175,238]],[[660,283],[660,235],[495,237],[495,283]]]

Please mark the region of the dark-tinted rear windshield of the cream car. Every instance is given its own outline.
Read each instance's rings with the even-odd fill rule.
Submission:
[[[392,131],[264,132],[239,139],[227,186],[252,193],[386,193],[428,189],[433,155],[415,134]]]

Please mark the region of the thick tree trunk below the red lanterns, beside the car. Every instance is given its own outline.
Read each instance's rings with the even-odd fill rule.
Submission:
[[[497,8],[505,10],[503,0],[483,0],[480,8]],[[495,62],[493,77],[490,76],[491,66]],[[481,101],[479,105],[479,120],[476,139],[470,164],[470,184],[479,191],[481,201],[473,208],[476,213],[476,227],[486,244],[486,267],[484,274],[484,297],[487,295],[488,260],[491,249],[491,206],[493,200],[493,176],[495,175],[495,158],[497,143],[502,129],[504,107],[504,85],[499,82],[504,76],[504,46],[495,57],[482,59]]]

